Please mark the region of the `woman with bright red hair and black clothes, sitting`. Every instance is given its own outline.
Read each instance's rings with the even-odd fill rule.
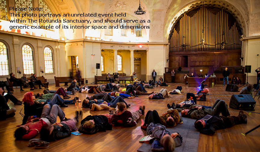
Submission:
[[[23,117],[23,124],[26,124],[27,119],[29,116],[36,116],[40,117],[42,114],[43,102],[36,103],[35,96],[33,92],[26,92],[23,95],[23,104],[24,104],[24,117]]]

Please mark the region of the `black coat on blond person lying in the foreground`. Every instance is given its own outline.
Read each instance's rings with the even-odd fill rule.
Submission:
[[[88,120],[94,120],[95,124],[94,124],[94,128],[83,128],[82,125],[85,123],[85,121]],[[83,134],[95,134],[98,131],[106,131],[106,130],[112,130],[112,125],[110,125],[108,123],[108,119],[106,116],[103,115],[95,115],[95,116],[87,116],[86,118],[84,118],[81,121],[81,125],[79,127],[79,132],[83,133]]]

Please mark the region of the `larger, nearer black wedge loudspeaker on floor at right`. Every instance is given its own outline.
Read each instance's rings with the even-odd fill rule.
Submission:
[[[254,110],[255,103],[251,94],[234,94],[230,99],[229,107],[238,110]]]

